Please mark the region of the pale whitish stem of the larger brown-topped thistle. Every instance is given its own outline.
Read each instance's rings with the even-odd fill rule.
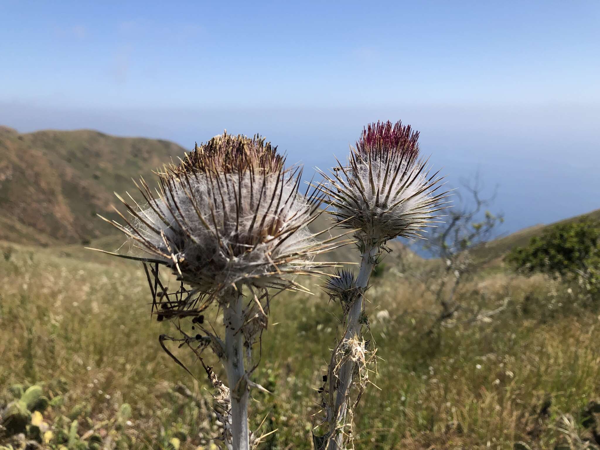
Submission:
[[[225,326],[225,370],[231,396],[233,450],[249,450],[248,380],[244,368],[244,310],[241,291],[232,296],[223,310]]]

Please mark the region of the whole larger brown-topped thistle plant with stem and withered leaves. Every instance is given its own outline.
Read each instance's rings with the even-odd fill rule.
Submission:
[[[307,292],[294,275],[322,274],[320,269],[332,263],[314,257],[345,243],[319,241],[329,229],[308,229],[323,195],[308,190],[302,195],[301,169],[286,169],[284,163],[264,138],[224,133],[157,172],[156,194],[140,179],[136,185],[145,205],[119,197],[130,217],[121,214],[125,224],[112,221],[142,254],[111,254],[143,263],[152,314],[173,319],[181,332],[177,339],[161,335],[161,346],[176,359],[164,343],[175,340],[200,358],[217,391],[222,439],[235,450],[260,440],[248,430],[248,392],[260,388],[250,379],[258,364],[252,353],[268,325],[272,293]],[[160,267],[175,275],[178,290],[164,286]],[[224,337],[205,323],[212,305],[223,311]],[[186,327],[192,324],[202,333],[190,332]],[[206,348],[223,362],[227,386],[204,364]]]

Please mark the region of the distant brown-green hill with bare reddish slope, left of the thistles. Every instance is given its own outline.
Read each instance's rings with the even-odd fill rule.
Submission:
[[[0,128],[0,239],[68,244],[112,233],[96,214],[116,218],[113,191],[135,189],[184,154],[164,140],[114,137],[91,130],[19,134]]]

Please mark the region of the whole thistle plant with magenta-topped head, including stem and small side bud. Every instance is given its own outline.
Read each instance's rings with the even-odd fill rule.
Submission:
[[[322,424],[327,431],[314,437],[319,450],[345,448],[352,440],[350,390],[353,385],[358,388],[354,399],[358,401],[375,352],[361,334],[362,325],[368,323],[364,295],[386,242],[398,237],[422,238],[448,203],[444,201],[448,192],[437,193],[442,186],[439,171],[431,173],[427,160],[419,155],[418,137],[418,132],[401,122],[369,124],[350,148],[348,164],[337,160],[329,174],[321,172],[325,183],[320,189],[329,197],[335,221],[340,227],[356,230],[361,263],[356,278],[338,273],[325,286],[342,305],[346,329],[334,346],[328,384],[322,389]]]

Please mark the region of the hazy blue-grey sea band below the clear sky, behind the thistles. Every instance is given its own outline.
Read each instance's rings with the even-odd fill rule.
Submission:
[[[403,119],[421,132],[421,148],[449,185],[480,173],[502,232],[551,223],[600,208],[600,107],[405,106],[395,109],[71,110],[0,103],[0,124],[20,133],[88,128],[116,136],[165,139],[191,149],[224,128],[260,133],[305,173],[326,169],[370,121]]]

